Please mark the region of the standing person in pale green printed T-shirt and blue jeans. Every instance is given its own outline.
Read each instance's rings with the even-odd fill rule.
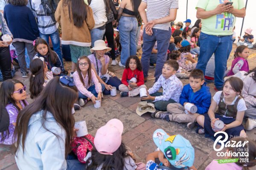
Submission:
[[[202,29],[199,37],[200,56],[196,68],[205,74],[206,65],[215,54],[215,90],[221,91],[224,85],[224,72],[232,50],[232,30],[236,17],[245,16],[244,0],[199,0],[197,18],[201,18]]]

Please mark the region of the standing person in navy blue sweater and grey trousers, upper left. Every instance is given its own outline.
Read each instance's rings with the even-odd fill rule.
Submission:
[[[4,7],[3,17],[13,34],[12,45],[15,47],[22,77],[28,77],[25,60],[25,48],[30,62],[35,56],[33,41],[39,37],[38,25],[32,11],[27,7],[27,0],[9,0]]]

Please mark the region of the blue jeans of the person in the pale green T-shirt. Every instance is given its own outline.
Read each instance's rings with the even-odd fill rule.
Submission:
[[[227,67],[227,59],[232,50],[233,38],[228,36],[215,36],[201,32],[200,37],[200,56],[196,68],[201,69],[205,74],[206,65],[212,54],[215,55],[214,84],[216,88],[224,85],[224,73]]]

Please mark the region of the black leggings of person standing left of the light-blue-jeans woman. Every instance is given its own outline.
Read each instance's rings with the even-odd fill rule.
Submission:
[[[114,59],[116,59],[116,55],[115,55],[115,46],[114,46],[114,30],[113,30],[112,22],[106,24],[105,29],[106,29],[106,31],[103,36],[103,40],[105,40],[105,36],[106,36],[107,41],[108,41],[108,47],[111,48],[111,51],[110,51],[111,58],[112,58],[112,60],[114,60]]]

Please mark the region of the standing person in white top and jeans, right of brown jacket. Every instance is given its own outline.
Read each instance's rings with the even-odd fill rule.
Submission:
[[[105,34],[106,22],[108,21],[106,14],[110,10],[109,0],[88,0],[89,6],[93,10],[93,18],[95,20],[95,26],[90,31],[92,39],[92,48],[94,42],[102,40]]]

